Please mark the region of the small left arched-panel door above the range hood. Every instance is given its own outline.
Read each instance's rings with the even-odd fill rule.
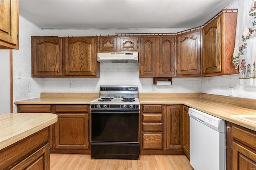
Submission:
[[[100,37],[99,50],[100,51],[116,51],[116,38],[114,37]]]

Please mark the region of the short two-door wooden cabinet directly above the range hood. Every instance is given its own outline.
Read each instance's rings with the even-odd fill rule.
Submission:
[[[98,52],[138,51],[137,36],[100,36]]]

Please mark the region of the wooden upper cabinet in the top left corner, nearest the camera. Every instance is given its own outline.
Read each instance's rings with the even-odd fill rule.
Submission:
[[[0,0],[0,49],[18,49],[18,0]]]

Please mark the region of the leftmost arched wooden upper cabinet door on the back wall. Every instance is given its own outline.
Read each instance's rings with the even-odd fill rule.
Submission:
[[[32,77],[62,76],[62,39],[32,37]]]

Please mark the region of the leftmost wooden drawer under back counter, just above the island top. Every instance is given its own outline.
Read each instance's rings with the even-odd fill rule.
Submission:
[[[52,105],[18,105],[18,113],[51,113]]]

